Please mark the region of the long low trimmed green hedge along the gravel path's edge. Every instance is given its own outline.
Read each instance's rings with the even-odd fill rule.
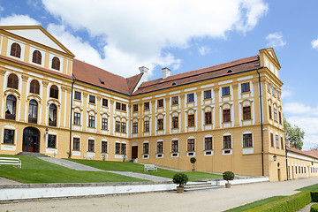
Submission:
[[[255,211],[263,211],[263,212],[277,212],[277,211],[296,211],[300,208],[304,208],[307,204],[312,201],[313,192],[301,192],[293,194],[292,196],[285,197],[279,201],[272,201],[268,204],[262,205],[260,207],[256,207],[253,209],[249,209],[246,211],[255,212]],[[318,193],[314,193],[314,196]]]

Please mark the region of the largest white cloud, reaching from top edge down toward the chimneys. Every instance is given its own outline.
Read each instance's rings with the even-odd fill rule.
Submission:
[[[104,59],[80,50],[80,46],[87,44],[80,39],[79,47],[73,51],[75,55],[82,55],[89,63],[97,60],[102,68],[125,76],[138,72],[140,65],[178,68],[181,61],[164,53],[165,50],[186,48],[193,37],[224,38],[230,31],[246,33],[268,10],[263,0],[42,0],[42,3],[64,26],[103,36],[107,43],[102,48]],[[72,41],[68,42],[62,34],[67,46]]]

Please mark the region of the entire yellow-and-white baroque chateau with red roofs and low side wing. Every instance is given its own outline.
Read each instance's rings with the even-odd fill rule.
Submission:
[[[0,51],[0,154],[318,176],[318,153],[285,143],[274,49],[154,80],[79,61],[39,26],[0,27]]]

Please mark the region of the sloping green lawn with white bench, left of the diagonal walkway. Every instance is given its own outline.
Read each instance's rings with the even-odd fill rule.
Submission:
[[[11,165],[0,166],[0,177],[10,178],[21,183],[102,183],[102,182],[140,182],[139,178],[130,178],[108,172],[71,170],[63,166],[42,161],[36,157],[0,155],[19,157],[22,169]]]

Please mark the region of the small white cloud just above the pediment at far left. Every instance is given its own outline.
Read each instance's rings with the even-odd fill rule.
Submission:
[[[27,15],[16,15],[1,18],[1,26],[21,26],[21,25],[41,25],[41,23],[35,19],[30,18]]]

